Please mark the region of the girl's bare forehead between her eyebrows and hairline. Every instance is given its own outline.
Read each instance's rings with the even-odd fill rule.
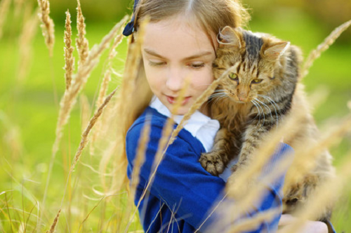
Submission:
[[[208,35],[196,20],[173,17],[146,26],[143,48],[179,57],[201,51],[216,51],[216,35]]]

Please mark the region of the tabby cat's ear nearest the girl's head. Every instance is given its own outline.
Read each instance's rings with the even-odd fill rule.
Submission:
[[[240,40],[241,28],[236,27],[232,28],[230,26],[225,26],[223,29],[220,29],[220,32],[217,35],[217,41],[221,44],[230,44],[230,46],[234,46],[237,48],[241,48],[241,40]]]

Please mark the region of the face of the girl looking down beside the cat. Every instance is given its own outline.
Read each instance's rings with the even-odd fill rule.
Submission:
[[[142,46],[146,78],[151,91],[170,111],[185,79],[190,79],[190,86],[176,112],[179,115],[187,113],[212,83],[217,41],[216,35],[211,37],[181,15],[147,25]],[[200,111],[207,114],[205,109]]]

